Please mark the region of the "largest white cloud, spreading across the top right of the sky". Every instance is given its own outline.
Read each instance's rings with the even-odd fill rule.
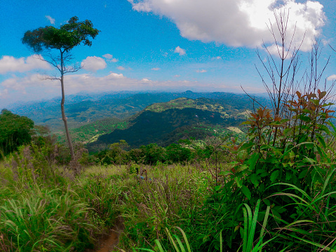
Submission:
[[[128,0],[135,11],[152,12],[170,18],[182,37],[228,46],[273,44],[267,24],[276,27],[274,11],[290,10],[288,38],[295,29],[294,44],[311,48],[314,37],[325,24],[323,5],[318,1],[297,0]],[[304,36],[305,34],[305,36]]]

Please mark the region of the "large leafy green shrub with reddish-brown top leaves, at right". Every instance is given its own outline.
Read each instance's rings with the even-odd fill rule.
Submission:
[[[272,230],[279,224],[285,225],[281,229],[285,234],[271,232],[274,239],[270,241],[269,246],[278,250],[287,250],[290,246],[295,247],[297,251],[313,251],[319,246],[318,244],[323,244],[321,236],[324,236],[325,241],[332,241],[330,234],[323,232],[323,229],[329,230],[333,227],[317,227],[319,225],[317,219],[322,216],[308,213],[309,211],[304,211],[301,207],[301,212],[298,211],[298,204],[302,204],[303,201],[309,204],[306,199],[303,200],[309,194],[311,195],[309,199],[316,197],[325,199],[318,196],[320,193],[323,195],[323,192],[318,192],[320,185],[328,187],[330,194],[335,190],[328,179],[331,177],[328,176],[330,167],[333,166],[328,152],[334,150],[331,149],[332,145],[328,144],[330,129],[327,125],[330,124],[329,114],[333,111],[328,110],[330,103],[323,102],[324,95],[325,92],[319,90],[316,94],[306,95],[297,92],[297,100],[290,100],[286,105],[290,113],[287,119],[277,115],[272,117],[270,110],[262,108],[251,114],[245,123],[249,126],[249,140],[240,145],[236,145],[234,141],[231,145],[227,145],[235,160],[231,162],[229,171],[221,172],[225,179],[221,187],[216,188],[216,193],[208,199],[209,211],[215,211],[214,204],[227,204],[231,208],[229,214],[231,220],[227,225],[221,224],[213,232],[223,229],[223,225],[231,227],[231,230],[239,227],[241,215],[234,209],[241,203],[257,205],[257,199],[262,199],[267,209],[263,209],[260,213],[266,216],[269,212],[272,217],[267,222],[267,230]],[[296,204],[293,204],[293,200]],[[328,204],[331,204],[330,202],[331,199],[328,200]],[[325,201],[320,202],[319,207],[320,209],[315,208],[314,211],[316,213],[322,211],[325,218],[324,212],[327,211]],[[328,207],[330,208],[333,209],[333,205]],[[311,215],[317,219],[311,220]],[[297,223],[306,223],[306,218],[309,220],[306,225],[309,225],[309,228],[315,225],[314,228],[317,229],[316,234],[311,234],[309,237],[304,237],[307,235],[305,232],[308,227],[297,230],[294,228]],[[325,222],[330,221],[332,218],[328,215],[328,220]],[[262,228],[257,227],[257,232],[262,232]],[[287,232],[288,229],[292,232]],[[227,246],[236,249],[237,235],[227,231],[223,233],[224,240],[227,241]],[[290,237],[298,237],[300,246],[295,245],[297,241],[290,243],[289,241],[293,241]],[[250,239],[255,242],[257,237],[253,235]],[[284,239],[288,239],[288,242],[283,241]],[[247,251],[250,251],[250,248],[246,247]]]

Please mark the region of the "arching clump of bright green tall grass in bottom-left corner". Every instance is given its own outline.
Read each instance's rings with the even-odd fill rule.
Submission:
[[[72,251],[93,243],[97,223],[71,191],[27,191],[0,206],[0,232],[17,251]]]

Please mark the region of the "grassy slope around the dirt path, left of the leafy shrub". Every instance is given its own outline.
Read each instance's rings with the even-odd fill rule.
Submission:
[[[152,227],[148,225],[154,227],[156,221],[162,228],[175,225],[180,220],[169,216],[179,214],[187,218],[189,209],[201,208],[208,195],[206,173],[196,166],[149,168],[150,178],[158,182],[150,187],[137,183],[135,175],[119,166],[93,166],[79,178],[69,173],[65,177],[56,175],[39,180],[37,184],[13,171],[0,163],[0,173],[4,175],[0,181],[0,209],[4,211],[0,221],[0,234],[4,238],[0,239],[0,250],[6,252],[84,251],[97,244],[97,235],[111,227],[120,214],[126,230],[119,246],[126,249],[144,246],[144,239],[133,237],[145,226],[150,230]],[[162,185],[170,188],[169,198]],[[150,199],[148,190],[159,192],[156,194],[159,205]],[[141,206],[137,201],[142,202]],[[164,211],[167,206],[168,212]],[[147,211],[139,215],[139,207],[146,207]],[[152,223],[148,223],[149,215],[153,214],[157,220],[151,218]],[[160,235],[163,238],[163,233]]]

